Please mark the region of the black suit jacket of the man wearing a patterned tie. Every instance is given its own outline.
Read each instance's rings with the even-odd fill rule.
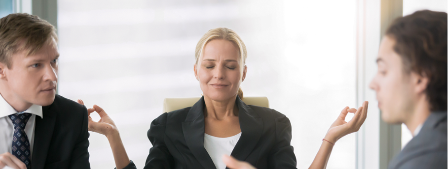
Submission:
[[[87,109],[56,95],[36,116],[32,169],[90,169]]]

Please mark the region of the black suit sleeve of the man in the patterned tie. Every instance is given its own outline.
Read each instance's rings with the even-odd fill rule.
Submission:
[[[87,108],[83,106],[82,109],[81,132],[72,151],[69,169],[90,169],[89,151],[87,150],[89,147],[89,120]]]

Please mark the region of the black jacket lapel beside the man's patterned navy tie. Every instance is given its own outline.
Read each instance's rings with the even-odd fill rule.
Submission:
[[[42,107],[43,118],[36,116],[36,128],[34,132],[34,148],[31,166],[33,169],[43,169],[45,166],[48,147],[53,136],[56,122],[56,106]]]

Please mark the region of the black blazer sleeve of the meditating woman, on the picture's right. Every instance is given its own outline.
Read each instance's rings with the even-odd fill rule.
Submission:
[[[268,169],[297,169],[296,155],[291,145],[291,122],[284,114],[272,110],[276,141],[268,155]]]

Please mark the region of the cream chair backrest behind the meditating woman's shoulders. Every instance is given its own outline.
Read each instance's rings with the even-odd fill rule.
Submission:
[[[165,100],[163,101],[163,113],[191,107],[199,99],[201,98],[165,98]],[[267,97],[243,97],[243,102],[246,103],[246,105],[255,105],[269,108],[269,101],[267,100]]]

